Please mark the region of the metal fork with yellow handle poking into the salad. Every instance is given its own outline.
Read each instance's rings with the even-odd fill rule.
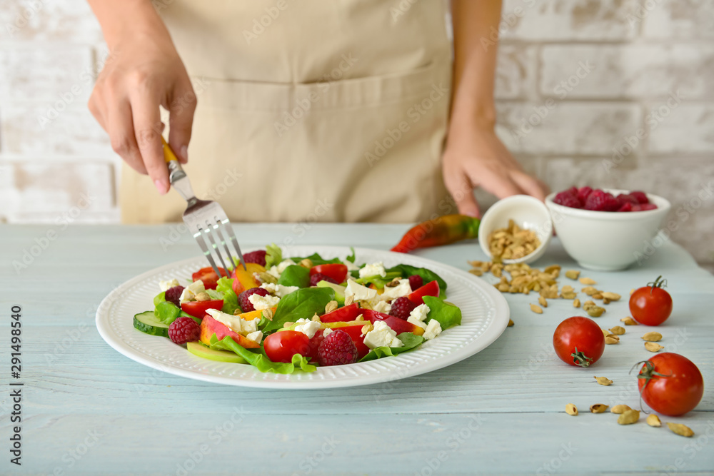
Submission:
[[[208,259],[208,263],[211,263],[211,268],[216,272],[216,276],[221,278],[222,274],[218,271],[213,254],[218,257],[224,270],[230,269],[226,266],[226,260],[223,260],[223,255],[221,255],[221,246],[226,250],[227,261],[233,268],[233,257],[231,250],[228,248],[228,240],[233,243],[238,259],[241,260],[243,269],[246,269],[241,247],[238,246],[236,233],[233,232],[231,221],[228,220],[226,212],[215,201],[196,198],[191,188],[191,182],[188,181],[186,172],[181,168],[181,163],[178,163],[176,154],[166,143],[164,137],[161,137],[161,142],[164,143],[164,160],[169,165],[169,182],[171,182],[174,190],[178,192],[178,195],[182,196],[188,203],[186,211],[183,212],[183,223],[186,223],[188,231],[193,232],[193,238],[196,239],[196,243],[201,247],[203,255]]]

